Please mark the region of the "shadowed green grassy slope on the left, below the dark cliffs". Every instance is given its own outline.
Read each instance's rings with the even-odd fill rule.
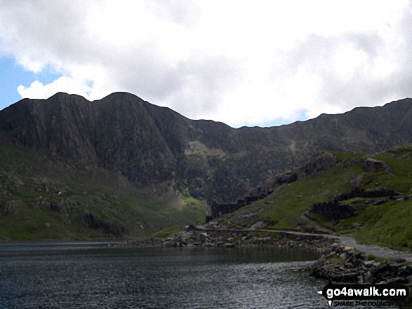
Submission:
[[[109,172],[79,172],[4,141],[0,162],[0,240],[147,237],[199,223],[208,211],[205,201],[186,197],[172,207],[119,188]]]

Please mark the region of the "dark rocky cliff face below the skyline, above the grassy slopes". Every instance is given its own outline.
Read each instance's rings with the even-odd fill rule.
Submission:
[[[197,198],[233,201],[320,150],[379,151],[412,142],[412,99],[273,128],[192,121],[135,95],[89,102],[58,93],[0,111],[0,131],[76,169],[103,167],[139,187],[168,182]]]

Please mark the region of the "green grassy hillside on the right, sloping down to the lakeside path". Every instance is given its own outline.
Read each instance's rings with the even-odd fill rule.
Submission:
[[[333,151],[338,165],[326,172],[279,186],[263,200],[219,219],[228,226],[316,229],[353,235],[360,242],[412,250],[412,146],[378,153],[368,158],[381,160],[387,170],[368,171],[364,153]],[[351,191],[351,181],[366,193],[393,190],[393,198],[354,197],[340,203],[356,210],[354,217],[331,220],[310,212],[314,203],[328,202]]]

